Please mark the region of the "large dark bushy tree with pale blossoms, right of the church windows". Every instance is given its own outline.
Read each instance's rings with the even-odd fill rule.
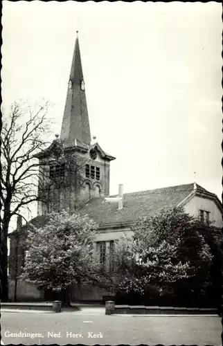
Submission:
[[[201,224],[183,208],[166,208],[140,218],[132,226],[132,240],[125,245],[127,253],[122,262],[128,265],[123,279],[114,271],[119,290],[143,300],[151,295],[202,295],[213,259],[202,235],[207,227],[210,225]],[[114,256],[113,261],[116,264]]]

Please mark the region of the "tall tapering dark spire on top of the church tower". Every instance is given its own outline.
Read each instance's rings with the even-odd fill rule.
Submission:
[[[91,143],[78,35],[75,40],[60,139],[71,146],[76,145],[77,140],[85,145]]]

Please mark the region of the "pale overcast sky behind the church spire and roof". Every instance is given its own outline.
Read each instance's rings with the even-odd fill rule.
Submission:
[[[91,136],[116,156],[110,193],[196,181],[220,197],[221,16],[215,2],[3,1],[3,104],[50,100],[60,133],[79,30]]]

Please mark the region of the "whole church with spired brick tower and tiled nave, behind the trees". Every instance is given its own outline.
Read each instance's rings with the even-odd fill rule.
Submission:
[[[213,221],[217,230],[222,228],[222,203],[215,194],[197,183],[127,194],[120,184],[117,194],[109,196],[110,163],[115,157],[105,152],[95,137],[91,138],[78,36],[60,136],[55,135],[50,147],[36,157],[39,160],[38,191],[41,199],[37,217],[30,223],[42,227],[48,213],[63,209],[89,215],[99,225],[95,248],[101,261],[121,236],[132,237],[131,226],[138,217],[152,215],[162,208],[184,206],[190,215]],[[30,223],[21,226],[21,219],[18,219],[17,230],[10,234],[10,300],[15,296],[15,282],[17,300],[44,299],[43,293],[34,285],[17,280],[19,268],[24,263],[24,242]],[[75,287],[72,300],[100,302],[106,294],[91,286]]]

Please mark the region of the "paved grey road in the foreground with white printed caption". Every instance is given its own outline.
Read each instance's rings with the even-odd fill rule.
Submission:
[[[217,316],[105,316],[105,309],[101,308],[62,313],[1,312],[1,336],[5,345],[220,346],[221,332],[221,320]]]

